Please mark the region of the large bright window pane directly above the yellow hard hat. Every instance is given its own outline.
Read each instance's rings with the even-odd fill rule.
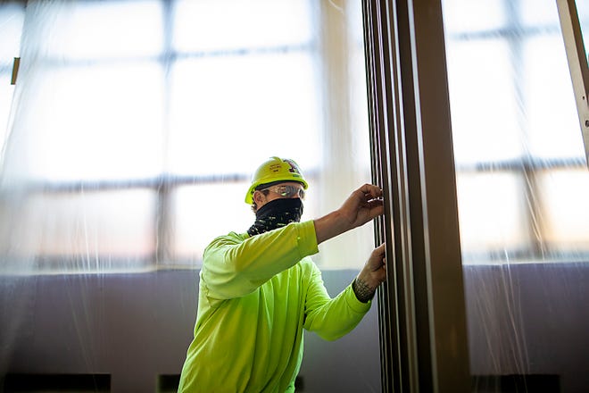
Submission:
[[[249,173],[272,155],[317,167],[321,118],[312,62],[309,53],[296,52],[178,62],[170,172]]]

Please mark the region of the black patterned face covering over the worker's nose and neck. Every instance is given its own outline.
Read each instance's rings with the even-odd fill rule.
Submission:
[[[303,201],[300,198],[274,199],[261,206],[255,213],[255,222],[247,230],[250,236],[285,227],[291,222],[300,222]]]

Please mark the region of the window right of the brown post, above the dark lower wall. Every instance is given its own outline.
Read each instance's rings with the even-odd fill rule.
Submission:
[[[588,261],[589,172],[556,4],[445,0],[444,21],[463,262]]]

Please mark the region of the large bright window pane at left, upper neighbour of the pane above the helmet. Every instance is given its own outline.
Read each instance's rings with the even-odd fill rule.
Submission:
[[[12,132],[28,156],[19,178],[124,180],[162,167],[162,68],[153,63],[39,67],[20,96],[29,113]],[[26,86],[25,86],[26,88]],[[17,113],[19,115],[19,113]],[[24,160],[26,158],[26,160]]]

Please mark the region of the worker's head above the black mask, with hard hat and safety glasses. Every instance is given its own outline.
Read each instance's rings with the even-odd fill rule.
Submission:
[[[279,198],[303,199],[309,185],[293,160],[271,157],[253,173],[245,203],[256,212],[262,205]]]

